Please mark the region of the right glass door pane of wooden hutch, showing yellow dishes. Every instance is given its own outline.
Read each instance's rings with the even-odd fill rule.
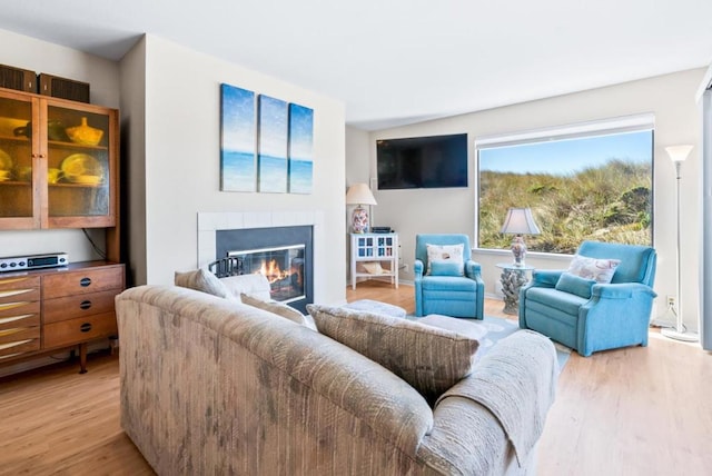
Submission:
[[[48,105],[43,172],[50,226],[67,226],[62,217],[91,226],[92,217],[111,215],[110,123],[108,113]]]

